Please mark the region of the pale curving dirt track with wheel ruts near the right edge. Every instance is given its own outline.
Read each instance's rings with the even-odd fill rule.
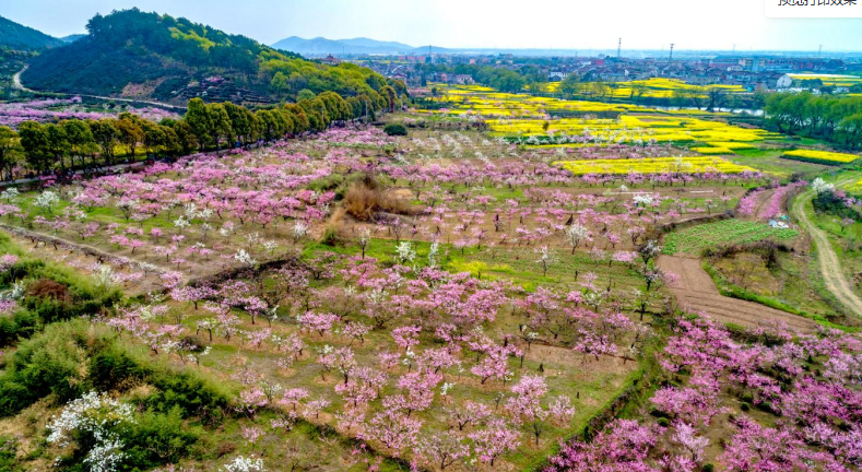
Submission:
[[[836,186],[846,185],[853,181],[853,179],[841,179],[836,182]],[[841,271],[841,262],[838,255],[835,253],[829,237],[826,233],[818,228],[805,213],[805,204],[814,198],[814,190],[808,189],[800,193],[793,199],[792,213],[799,222],[800,226],[807,229],[811,238],[817,245],[817,264],[823,274],[823,282],[826,290],[831,292],[838,302],[841,303],[849,311],[852,311],[858,317],[862,317],[862,299],[853,293],[850,283],[845,279],[843,271]]]

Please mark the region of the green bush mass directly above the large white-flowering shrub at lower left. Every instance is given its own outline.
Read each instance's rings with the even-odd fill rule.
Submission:
[[[0,416],[48,396],[61,404],[91,390],[126,391],[142,384],[157,389],[141,399],[157,413],[178,408],[182,417],[213,421],[229,404],[231,392],[215,382],[138,356],[107,328],[75,319],[49,324],[21,343],[0,375]]]

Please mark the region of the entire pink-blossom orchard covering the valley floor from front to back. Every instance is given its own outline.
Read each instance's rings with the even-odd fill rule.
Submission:
[[[737,220],[663,235],[747,208],[774,190],[764,174],[668,144],[520,145],[421,119],[403,117],[408,137],[332,128],[0,193],[0,223],[35,246],[25,258],[132,295],[93,330],[229,391],[184,417],[219,455],[165,470],[742,471],[779,460],[763,442],[788,463],[855,467],[854,397],[835,387],[858,380],[855,337],[764,326],[739,341],[683,316],[657,266],[663,250],[775,236]],[[779,208],[793,188],[777,187]],[[2,312],[38,292],[22,260],[0,259]],[[128,432],[147,426],[131,406],[177,394],[128,384],[58,405],[51,452],[129,465]],[[802,405],[820,391],[828,417]],[[647,392],[633,410],[652,418],[607,416]],[[591,442],[571,440],[584,430]]]

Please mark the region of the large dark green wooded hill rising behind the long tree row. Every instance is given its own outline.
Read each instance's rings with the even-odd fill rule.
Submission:
[[[34,90],[157,99],[275,103],[308,88],[344,97],[376,94],[386,80],[354,64],[312,64],[182,17],[138,9],[96,15],[88,34],[33,59],[21,79]]]

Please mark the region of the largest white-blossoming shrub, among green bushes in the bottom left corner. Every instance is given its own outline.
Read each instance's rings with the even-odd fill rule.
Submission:
[[[93,472],[113,472],[126,458],[122,440],[114,428],[134,423],[132,408],[121,403],[107,393],[91,391],[80,399],[72,400],[48,425],[48,442],[67,447],[73,434],[85,434],[93,438],[95,446],[84,457]]]

